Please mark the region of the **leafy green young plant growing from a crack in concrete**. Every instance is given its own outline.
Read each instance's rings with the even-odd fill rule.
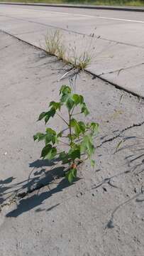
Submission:
[[[64,119],[61,114],[62,107],[66,107],[68,119]],[[78,110],[78,112],[76,112]],[[46,128],[45,134],[38,132],[33,136],[34,140],[44,140],[45,146],[41,151],[43,159],[59,158],[62,164],[68,164],[65,177],[70,183],[77,177],[77,165],[82,159],[90,159],[92,166],[94,160],[93,138],[98,132],[99,124],[96,122],[85,123],[76,119],[77,114],[87,116],[89,110],[84,102],[84,97],[72,92],[72,89],[67,85],[62,85],[60,88],[60,101],[50,102],[46,112],[42,112],[38,120],[45,119],[45,124],[50,122],[50,118],[57,115],[65,122],[65,131],[55,132],[50,127]],[[59,151],[58,146],[62,144],[67,146],[66,151]]]

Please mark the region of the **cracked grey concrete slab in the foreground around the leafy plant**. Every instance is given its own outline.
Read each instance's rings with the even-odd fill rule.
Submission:
[[[38,114],[69,82],[58,82],[69,67],[6,33],[0,37],[0,255],[143,256],[143,99],[78,75],[76,90],[100,132],[95,168],[79,166],[70,186],[65,166],[39,159],[42,144],[33,142],[45,129]]]

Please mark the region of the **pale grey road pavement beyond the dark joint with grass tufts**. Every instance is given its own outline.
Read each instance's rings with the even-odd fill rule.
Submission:
[[[55,28],[68,52],[75,46],[92,55],[87,70],[144,97],[143,13],[0,5],[0,29],[23,41],[44,48],[45,34]]]

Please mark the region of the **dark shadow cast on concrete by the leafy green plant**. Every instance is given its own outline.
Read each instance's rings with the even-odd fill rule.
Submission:
[[[17,208],[6,214],[6,217],[17,217],[21,213],[41,205],[53,193],[60,192],[70,186],[70,183],[65,179],[65,166],[56,166],[59,161],[60,159],[55,159],[55,161],[38,159],[29,164],[33,169],[26,180],[12,183],[15,179],[12,176],[0,181],[0,203],[4,204],[5,201],[13,199],[18,201]],[[57,179],[59,180],[57,181]],[[43,193],[37,193],[40,188],[48,186],[50,183],[55,183],[55,188]],[[35,194],[32,194],[33,191],[35,191]]]

